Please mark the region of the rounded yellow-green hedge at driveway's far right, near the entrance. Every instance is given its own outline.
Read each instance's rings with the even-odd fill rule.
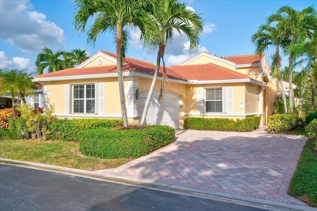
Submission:
[[[300,124],[301,120],[297,114],[274,114],[268,117],[267,129],[270,132],[285,132]]]

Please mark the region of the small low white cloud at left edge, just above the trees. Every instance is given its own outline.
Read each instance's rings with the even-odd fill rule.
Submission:
[[[29,58],[9,57],[5,54],[4,51],[0,51],[0,69],[26,69],[26,72],[29,74],[34,73],[36,71],[34,64],[31,62]]]

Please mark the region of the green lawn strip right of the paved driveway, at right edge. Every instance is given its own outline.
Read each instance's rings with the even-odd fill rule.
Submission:
[[[305,135],[305,130],[295,130],[293,134]],[[297,169],[291,180],[289,194],[317,207],[317,158],[312,153],[312,141],[309,139],[304,147]]]

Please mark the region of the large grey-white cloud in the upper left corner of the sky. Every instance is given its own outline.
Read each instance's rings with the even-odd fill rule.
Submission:
[[[30,0],[0,0],[0,39],[25,52],[62,47],[65,41],[63,30],[45,20],[45,14],[32,9]]]

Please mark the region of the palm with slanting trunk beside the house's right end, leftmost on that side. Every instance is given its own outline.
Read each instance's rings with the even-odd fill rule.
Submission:
[[[252,35],[251,41],[256,45],[256,54],[261,58],[262,54],[267,50],[269,46],[275,47],[275,53],[272,56],[271,69],[276,70],[276,88],[282,91],[282,97],[284,102],[284,110],[287,114],[287,104],[284,85],[282,82],[282,71],[281,71],[281,57],[279,54],[280,48],[283,48],[286,44],[286,40],[281,36],[280,31],[271,26],[269,23],[261,25],[258,31]]]

